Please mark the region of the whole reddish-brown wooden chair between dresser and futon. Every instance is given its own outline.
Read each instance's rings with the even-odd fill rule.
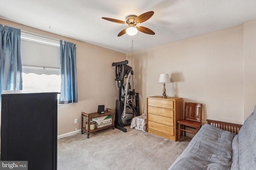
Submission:
[[[196,134],[202,125],[202,104],[199,103],[187,103],[185,102],[184,119],[178,120],[178,141],[180,142],[180,131]],[[196,129],[195,131],[189,131],[185,128],[190,127]]]

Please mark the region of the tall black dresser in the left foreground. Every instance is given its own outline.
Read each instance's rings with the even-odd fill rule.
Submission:
[[[28,170],[57,169],[57,94],[2,93],[2,161],[26,160]]]

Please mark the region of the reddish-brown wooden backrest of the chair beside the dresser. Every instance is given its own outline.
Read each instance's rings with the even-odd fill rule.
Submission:
[[[202,104],[185,102],[184,119],[202,122]]]

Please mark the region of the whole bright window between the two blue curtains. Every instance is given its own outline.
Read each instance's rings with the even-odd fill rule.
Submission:
[[[20,49],[23,90],[60,92],[60,42],[22,31]]]

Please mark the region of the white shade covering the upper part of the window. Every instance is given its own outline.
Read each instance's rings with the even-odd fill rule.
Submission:
[[[60,42],[40,35],[21,33],[22,72],[60,74]]]

